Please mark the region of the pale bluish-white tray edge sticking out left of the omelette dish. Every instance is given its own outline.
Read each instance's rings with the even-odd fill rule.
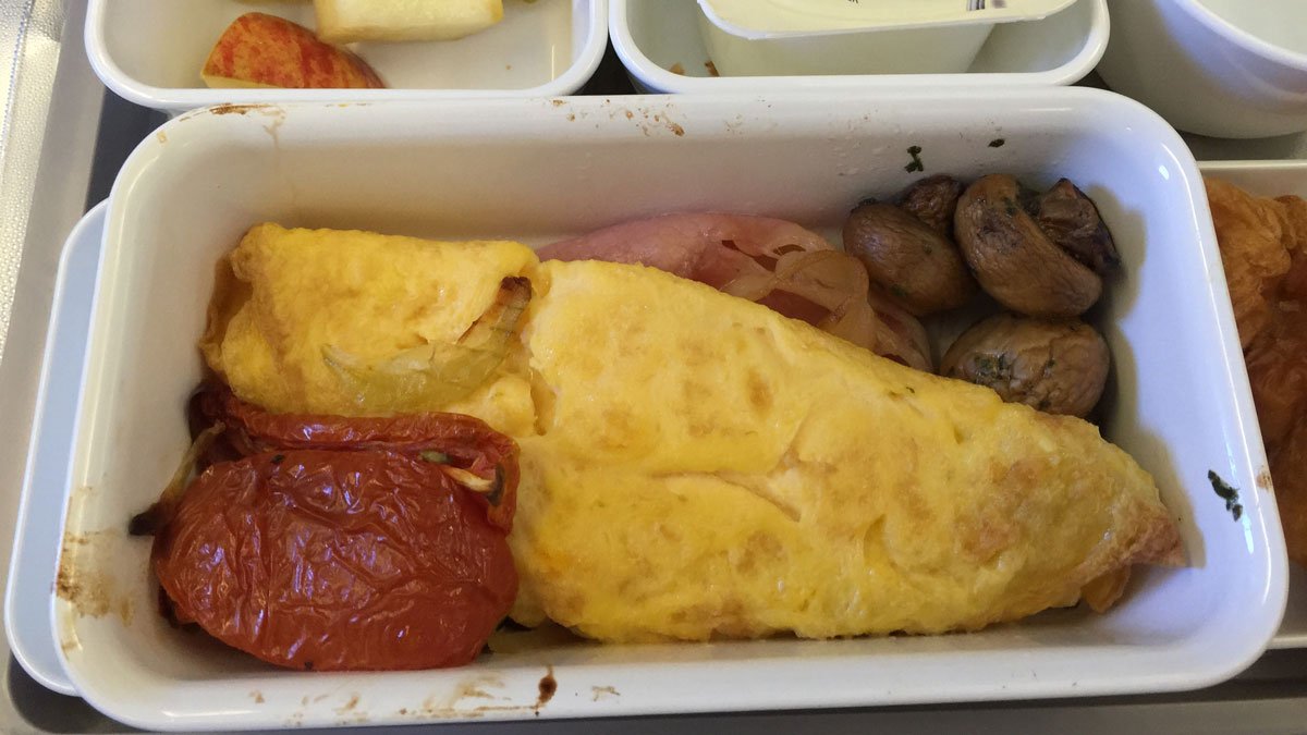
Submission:
[[[55,646],[50,599],[59,565],[59,528],[68,501],[77,386],[86,361],[90,296],[105,239],[105,208],[99,204],[82,217],[59,258],[5,589],[4,628],[13,657],[33,679],[60,694],[76,694],[77,689],[68,680]]]

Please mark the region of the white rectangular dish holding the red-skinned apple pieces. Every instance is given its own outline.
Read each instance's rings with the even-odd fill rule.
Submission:
[[[459,41],[356,43],[391,89],[208,89],[200,68],[227,25],[259,10],[314,27],[311,4],[90,0],[86,54],[105,85],[179,112],[220,103],[379,102],[571,94],[608,46],[608,0],[506,0],[498,25]]]

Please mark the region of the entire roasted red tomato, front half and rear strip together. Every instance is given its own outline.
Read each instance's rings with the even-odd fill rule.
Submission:
[[[227,456],[133,521],[179,623],[298,670],[477,657],[518,590],[511,439],[452,415],[273,416],[222,390],[192,408]]]

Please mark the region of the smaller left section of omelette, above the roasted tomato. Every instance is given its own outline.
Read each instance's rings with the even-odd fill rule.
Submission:
[[[463,400],[427,404],[414,396],[404,411],[361,402],[325,357],[378,364],[423,345],[452,345],[495,302],[506,277],[536,264],[535,252],[516,242],[256,225],[218,263],[200,348],[238,396],[274,413],[447,411],[520,433],[531,426],[531,392],[514,374],[511,352]]]

